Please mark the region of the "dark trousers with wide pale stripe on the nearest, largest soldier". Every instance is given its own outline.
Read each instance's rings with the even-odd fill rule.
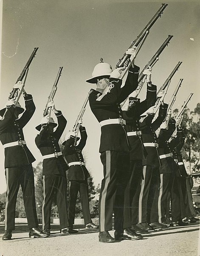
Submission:
[[[123,232],[124,192],[129,180],[129,154],[121,151],[101,152],[104,166],[104,178],[101,181],[99,196],[99,231],[112,230],[114,211],[114,228]]]

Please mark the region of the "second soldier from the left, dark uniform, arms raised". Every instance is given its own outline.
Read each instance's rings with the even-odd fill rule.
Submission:
[[[60,219],[60,233],[77,233],[69,227],[68,207],[67,207],[67,164],[62,156],[58,141],[65,129],[67,121],[61,111],[57,111],[54,103],[50,102],[48,108],[54,111],[58,120],[57,124],[49,116],[42,118],[41,124],[36,127],[39,132],[35,138],[35,143],[43,156],[42,163],[42,183],[43,183],[43,202],[42,202],[42,229],[50,236],[51,204],[54,193],[56,193],[56,204]]]

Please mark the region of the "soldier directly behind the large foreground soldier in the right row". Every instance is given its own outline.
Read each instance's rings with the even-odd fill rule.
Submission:
[[[150,72],[149,69],[145,70]],[[132,96],[133,92],[130,96]],[[136,93],[137,94],[137,93]],[[136,96],[136,95],[133,95]],[[156,86],[151,83],[148,79],[147,83],[147,93],[146,99],[140,102],[140,99],[136,97],[129,97],[129,109],[128,111],[123,111],[124,119],[126,120],[126,130],[127,137],[130,145],[130,181],[129,189],[130,195],[127,195],[129,189],[125,192],[125,205],[124,205],[124,233],[126,233],[127,228],[130,224],[129,220],[129,200],[130,200],[130,214],[131,214],[131,229],[139,234],[147,233],[145,230],[135,227],[138,223],[138,203],[139,203],[139,192],[141,190],[141,179],[142,179],[142,160],[146,157],[147,152],[144,148],[142,140],[142,132],[140,128],[140,115],[144,113],[147,109],[155,104],[156,101]],[[123,109],[123,108],[122,108]],[[138,239],[138,238],[136,238]]]

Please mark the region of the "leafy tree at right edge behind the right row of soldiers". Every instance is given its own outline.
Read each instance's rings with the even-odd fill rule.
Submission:
[[[175,109],[173,113],[177,113],[178,110]],[[200,171],[200,103],[194,111],[190,111],[186,108],[183,113],[183,120],[181,122],[181,127],[185,135],[185,143],[181,150],[183,159],[186,160],[188,172]]]

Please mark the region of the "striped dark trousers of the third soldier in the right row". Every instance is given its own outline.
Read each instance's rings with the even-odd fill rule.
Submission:
[[[158,186],[158,166],[143,166],[143,177],[141,180],[141,189],[139,191],[138,204],[138,222],[147,221],[147,209],[151,212],[152,202],[154,200],[155,187]],[[150,195],[149,195],[150,191]],[[151,202],[148,202],[151,200]]]

